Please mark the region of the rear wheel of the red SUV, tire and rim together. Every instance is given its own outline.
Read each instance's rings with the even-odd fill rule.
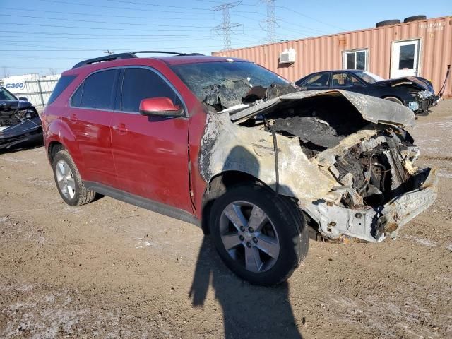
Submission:
[[[80,173],[67,150],[59,150],[52,163],[57,189],[64,202],[70,206],[82,206],[95,199],[95,191],[85,187]]]

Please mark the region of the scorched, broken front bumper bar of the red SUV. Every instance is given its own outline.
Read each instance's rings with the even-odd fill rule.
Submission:
[[[396,237],[400,227],[410,222],[434,203],[437,191],[436,169],[422,169],[413,178],[411,191],[376,208],[344,208],[326,201],[317,201],[307,208],[319,222],[324,237],[340,239],[344,235],[367,242],[381,242]]]

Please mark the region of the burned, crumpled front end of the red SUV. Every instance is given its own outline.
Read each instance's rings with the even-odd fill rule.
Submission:
[[[408,107],[343,90],[237,105],[210,115],[201,174],[247,172],[294,198],[324,238],[381,242],[436,198],[403,129],[414,124]]]

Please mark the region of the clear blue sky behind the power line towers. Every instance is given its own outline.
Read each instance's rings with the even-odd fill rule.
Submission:
[[[0,0],[0,78],[49,75],[114,53],[224,48],[222,11],[232,0]],[[232,48],[265,44],[266,1],[230,9]],[[276,41],[374,27],[381,20],[452,15],[451,0],[275,0]],[[238,24],[238,25],[235,25]]]

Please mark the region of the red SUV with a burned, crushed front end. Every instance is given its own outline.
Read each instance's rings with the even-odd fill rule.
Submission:
[[[381,242],[436,198],[407,107],[300,91],[242,59],[137,53],[65,71],[44,110],[71,206],[102,194],[201,225],[234,273],[273,285],[307,255],[307,222],[324,239]]]

